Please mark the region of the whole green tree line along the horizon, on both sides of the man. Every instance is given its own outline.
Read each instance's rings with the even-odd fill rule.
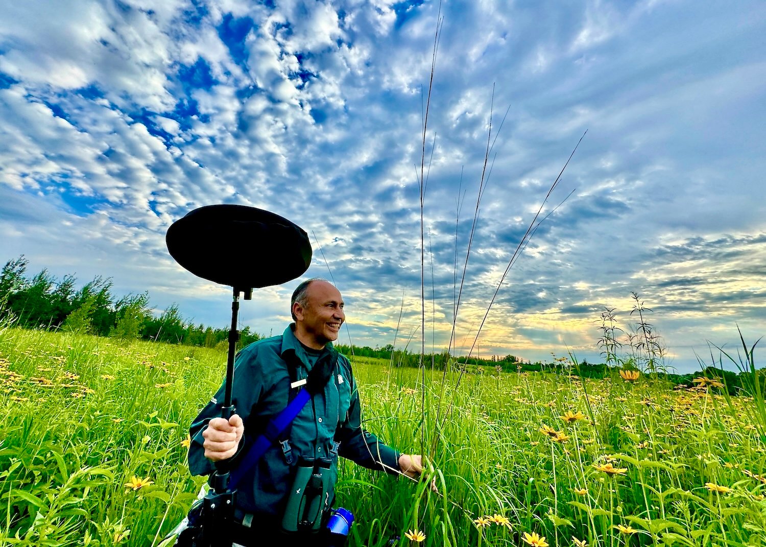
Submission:
[[[16,325],[28,329],[64,330],[83,332],[97,336],[113,336],[121,339],[144,339],[156,342],[185,344],[188,346],[228,347],[228,328],[213,328],[184,319],[178,305],[172,304],[159,315],[152,313],[149,293],[129,294],[116,298],[112,294],[112,281],[101,276],[94,277],[79,289],[77,279],[65,275],[61,280],[51,275],[47,268],[28,277],[29,261],[22,254],[8,260],[0,271],[0,322],[12,319]],[[261,339],[250,326],[240,330],[237,349]],[[491,355],[479,357],[456,357],[446,349],[440,353],[426,354],[407,348],[395,349],[393,344],[371,348],[336,344],[339,352],[356,357],[385,359],[394,366],[418,367],[424,365],[435,370],[462,368],[466,372],[559,372],[586,378],[604,378],[613,374],[615,368],[609,363],[593,364],[583,360],[573,366],[566,358],[552,362],[526,362],[515,355]],[[662,373],[658,377],[673,385],[692,387],[699,375],[719,378],[725,382],[726,391],[738,394],[747,387],[746,373],[725,371],[715,367],[702,367],[700,372],[676,375]],[[761,375],[763,376],[763,375]],[[766,392],[766,376],[760,379]]]

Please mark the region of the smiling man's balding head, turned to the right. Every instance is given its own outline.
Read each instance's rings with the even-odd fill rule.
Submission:
[[[295,336],[306,346],[322,349],[338,339],[345,321],[343,298],[339,290],[326,281],[312,281],[306,289],[306,306],[293,304],[296,316]]]

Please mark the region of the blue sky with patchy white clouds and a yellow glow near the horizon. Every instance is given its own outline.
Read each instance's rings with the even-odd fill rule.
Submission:
[[[760,0],[0,0],[0,260],[205,325],[231,288],[165,232],[240,204],[309,234],[341,342],[601,362],[636,293],[690,372],[766,335],[764,143]],[[297,283],[240,325],[282,332]]]

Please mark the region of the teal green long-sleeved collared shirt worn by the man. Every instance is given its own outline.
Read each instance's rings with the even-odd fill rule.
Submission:
[[[306,378],[316,355],[306,355],[304,346],[293,334],[293,326],[282,336],[259,340],[242,349],[234,364],[232,400],[237,414],[244,421],[244,435],[237,454],[228,460],[235,467],[250,447],[247,439],[254,440],[271,418],[286,407],[290,393],[290,372],[284,355],[295,352],[300,360],[296,379]],[[202,431],[211,418],[220,416],[224,399],[224,386],[202,409],[191,424],[191,445],[188,463],[192,475],[206,475],[215,467],[205,458]],[[293,420],[290,446],[293,465],[286,463],[282,447],[275,444],[264,457],[242,478],[237,486],[235,504],[238,509],[261,516],[281,516],[286,503],[287,490],[293,480],[293,467],[300,457],[307,459],[332,458],[331,483],[338,477],[337,457],[333,457],[333,441],[339,443],[339,456],[353,460],[368,469],[396,473],[400,454],[386,446],[375,435],[362,429],[359,395],[351,363],[345,355],[338,355],[335,372],[325,386],[310,400]],[[332,500],[332,495],[330,496]]]

